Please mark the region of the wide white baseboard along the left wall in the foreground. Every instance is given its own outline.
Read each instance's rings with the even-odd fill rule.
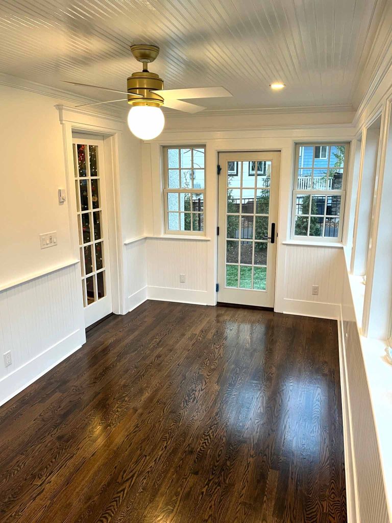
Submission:
[[[0,380],[0,405],[3,405],[31,383],[41,378],[61,361],[71,356],[86,341],[85,333],[80,329],[68,334],[38,356],[27,361],[21,367],[10,372]]]

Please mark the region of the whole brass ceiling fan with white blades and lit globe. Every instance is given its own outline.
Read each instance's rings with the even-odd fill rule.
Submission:
[[[84,87],[94,87],[114,93],[126,94],[126,98],[101,101],[94,104],[83,104],[76,107],[87,107],[100,104],[111,104],[117,101],[127,101],[131,110],[128,115],[128,125],[132,133],[142,140],[152,140],[163,130],[165,117],[160,109],[161,106],[177,109],[178,111],[195,113],[202,111],[205,107],[190,104],[185,99],[192,98],[216,98],[233,96],[224,87],[194,87],[187,89],[164,89],[162,78],[156,73],[148,71],[147,64],[154,62],[159,54],[159,47],[141,44],[131,46],[131,52],[138,62],[142,62],[143,71],[133,73],[126,81],[127,90],[110,89],[98,85],[80,84],[77,82],[66,82],[68,84]]]

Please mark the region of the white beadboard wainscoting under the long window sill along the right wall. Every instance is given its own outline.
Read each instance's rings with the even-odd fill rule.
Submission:
[[[377,381],[378,378],[377,375],[372,376],[374,373],[369,372],[369,369],[366,371],[362,344],[368,342],[362,340],[361,344],[345,265],[340,291],[339,349],[348,521],[389,523],[387,487],[379,442],[384,432],[383,438],[388,447],[390,435],[376,428],[374,405],[380,402],[378,399],[372,402],[371,390],[372,380]],[[372,347],[371,352],[371,359],[381,360],[377,349]],[[388,367],[387,363],[382,363]],[[381,374],[378,376],[384,378]],[[389,398],[387,401],[390,401]],[[385,417],[386,412],[387,408],[380,417]]]

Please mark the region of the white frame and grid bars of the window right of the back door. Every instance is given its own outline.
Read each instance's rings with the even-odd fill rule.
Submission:
[[[333,146],[339,146],[344,145],[345,146],[345,153],[344,153],[344,164],[343,164],[343,175],[342,175],[342,187],[341,189],[297,189],[298,187],[298,173],[299,173],[299,151],[301,147],[318,147],[318,146],[327,146],[327,147],[333,147]],[[330,150],[328,150],[329,152]],[[329,153],[330,154],[330,153]],[[295,142],[294,144],[294,172],[293,172],[293,190],[292,190],[292,208],[291,208],[291,231],[290,231],[290,239],[296,242],[317,242],[317,243],[342,243],[342,237],[343,237],[343,228],[344,228],[344,211],[345,211],[345,197],[346,197],[346,189],[347,189],[347,178],[348,178],[348,167],[349,167],[349,154],[350,154],[350,142],[316,142],[316,141],[309,141],[309,142]],[[327,154],[328,157],[328,154]],[[315,158],[315,154],[313,155],[313,163],[312,167],[309,167],[309,169],[312,170],[312,179],[313,179],[313,172],[314,172],[314,161],[315,160],[327,160],[327,158]],[[306,168],[306,167],[304,167]],[[326,170],[330,168],[329,166],[326,167]],[[312,217],[327,217],[327,202],[328,202],[328,196],[340,196],[340,212],[339,212],[339,228],[338,228],[338,236],[299,236],[295,235],[295,218],[296,218],[296,198],[298,195],[310,195],[310,196],[325,196],[325,206],[324,206],[324,214],[304,214],[305,216],[312,216]],[[310,207],[310,202],[309,202]],[[310,208],[309,208],[310,211]],[[331,218],[333,218],[333,215],[331,215]],[[309,234],[309,226],[310,226],[310,220],[308,220],[308,234]],[[324,228],[325,228],[325,221],[324,221]]]

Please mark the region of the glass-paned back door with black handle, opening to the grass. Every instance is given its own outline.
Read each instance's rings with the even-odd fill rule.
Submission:
[[[220,153],[218,302],[273,307],[279,152]]]

